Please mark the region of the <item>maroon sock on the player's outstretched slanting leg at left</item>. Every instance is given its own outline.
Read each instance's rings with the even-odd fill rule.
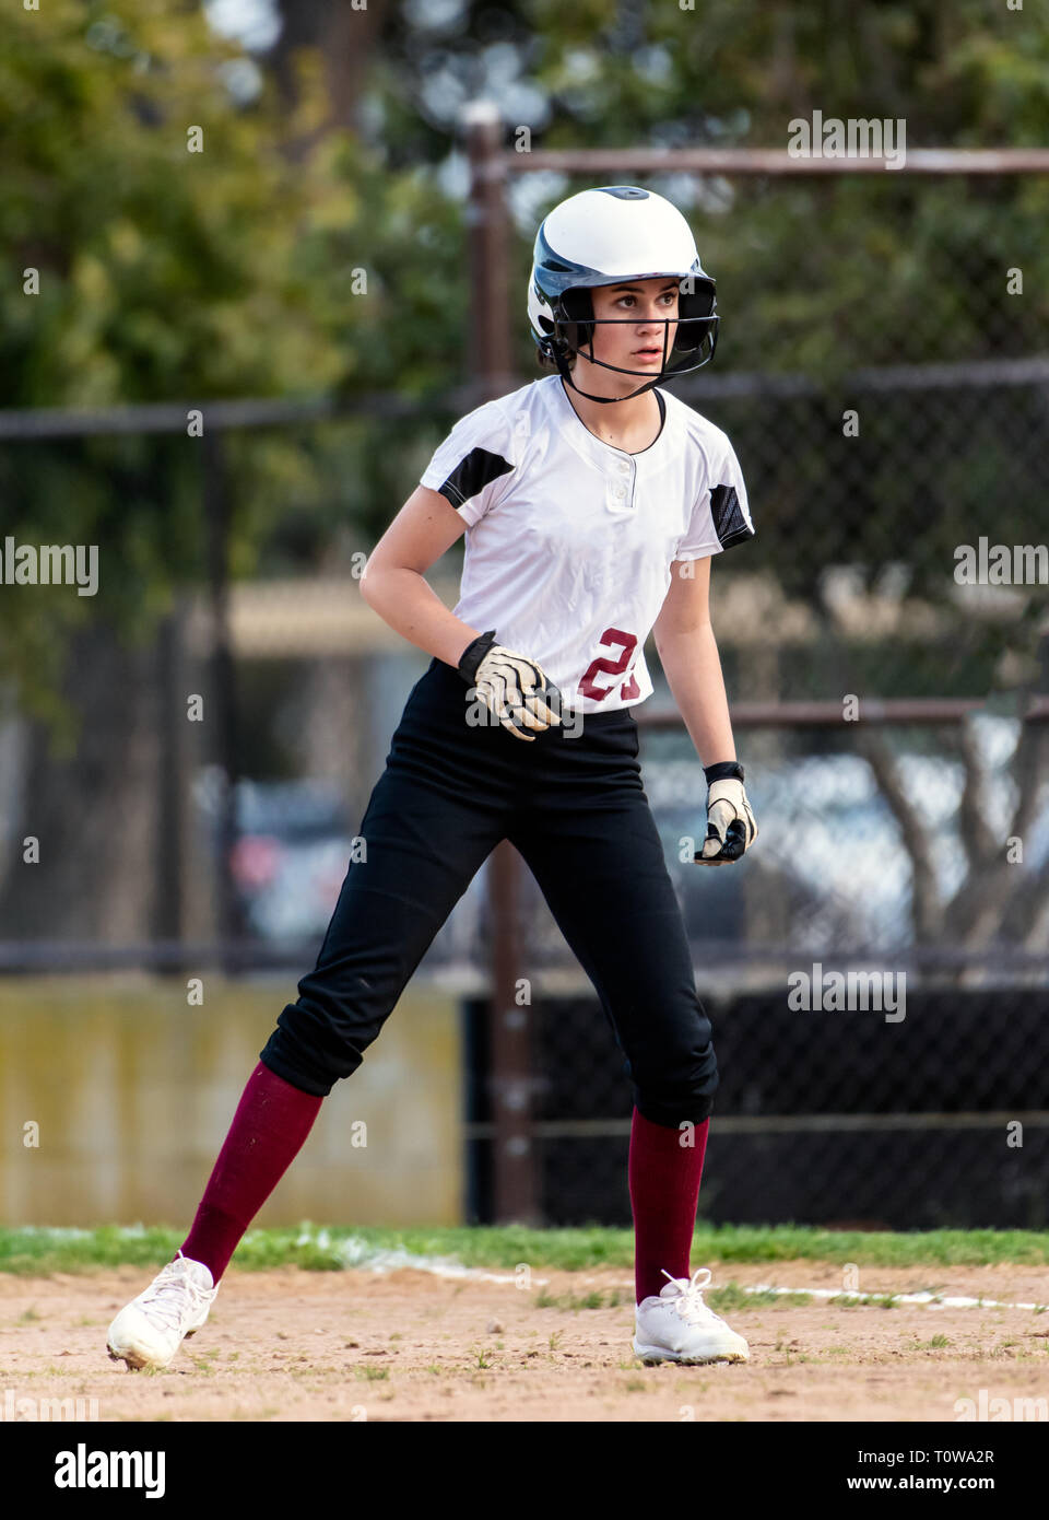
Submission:
[[[182,1256],[217,1283],[240,1237],[299,1154],[323,1097],[291,1087],[260,1061],[241,1094]]]

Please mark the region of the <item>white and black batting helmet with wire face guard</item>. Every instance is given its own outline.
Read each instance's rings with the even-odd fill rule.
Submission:
[[[662,269],[657,266],[660,257],[668,258]],[[674,316],[595,318],[592,290],[659,277],[679,281]],[[554,363],[565,385],[580,395],[601,403],[627,401],[710,362],[718,337],[715,289],[700,264],[685,217],[668,201],[630,185],[584,190],[556,207],[536,236],[528,289],[531,336],[539,354]],[[663,353],[657,374],[651,368],[612,365],[594,354],[597,327],[660,324]],[[668,351],[671,325],[676,333]],[[624,397],[591,395],[571,377],[568,359],[572,353],[597,368],[644,380],[644,385]]]

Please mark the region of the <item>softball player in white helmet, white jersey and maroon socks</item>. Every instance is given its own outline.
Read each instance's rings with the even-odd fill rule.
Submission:
[[[663,670],[706,763],[695,859],[758,834],[707,616],[710,559],[753,534],[726,435],[660,380],[706,363],[715,283],[685,217],[630,185],[539,228],[528,319],[551,372],[463,416],[376,544],[369,605],[433,655],[393,734],[317,964],[247,1081],[175,1260],[109,1327],[109,1354],[165,1366],[247,1225],[351,1076],[501,839],[519,850],[601,1000],[633,1085],[633,1350],[745,1360],[691,1272],[717,1088],[710,1024],[641,781],[633,707]],[[448,611],[424,575],[466,534]]]

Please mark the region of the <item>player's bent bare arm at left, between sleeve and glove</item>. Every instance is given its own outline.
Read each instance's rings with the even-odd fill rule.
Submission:
[[[361,596],[398,634],[452,669],[484,629],[455,617],[424,579],[466,532],[440,491],[417,486],[367,556]]]

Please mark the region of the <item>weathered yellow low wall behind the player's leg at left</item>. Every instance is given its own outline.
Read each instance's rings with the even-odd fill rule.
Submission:
[[[295,985],[213,974],[203,999],[143,976],[0,980],[0,1224],[188,1227]],[[454,997],[410,986],[257,1222],[458,1222],[460,1073]]]

